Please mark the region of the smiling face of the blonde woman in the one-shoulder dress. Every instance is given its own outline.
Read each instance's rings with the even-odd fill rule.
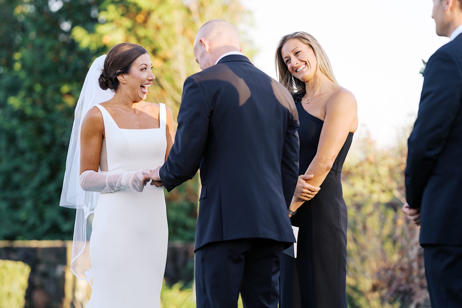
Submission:
[[[317,62],[313,49],[294,38],[281,48],[281,56],[293,77],[308,82],[316,76]]]

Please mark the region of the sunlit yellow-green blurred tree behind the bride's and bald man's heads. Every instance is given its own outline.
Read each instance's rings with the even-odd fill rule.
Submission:
[[[206,21],[223,18],[247,25],[250,15],[238,0],[105,0],[98,6],[101,24],[95,30],[76,25],[72,36],[80,48],[108,50],[120,42],[132,42],[151,55],[156,81],[147,101],[165,103],[176,117],[184,80],[200,71],[193,44],[197,30]],[[251,57],[245,32],[243,49]]]

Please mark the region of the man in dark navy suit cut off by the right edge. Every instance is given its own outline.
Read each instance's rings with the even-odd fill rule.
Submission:
[[[462,0],[434,0],[439,36],[407,140],[407,203],[420,228],[432,308],[462,307]]]

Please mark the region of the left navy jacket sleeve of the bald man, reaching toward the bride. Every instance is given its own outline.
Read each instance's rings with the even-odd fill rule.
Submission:
[[[210,114],[201,85],[194,76],[188,77],[183,85],[175,143],[159,170],[167,191],[192,179],[199,169],[207,143]]]

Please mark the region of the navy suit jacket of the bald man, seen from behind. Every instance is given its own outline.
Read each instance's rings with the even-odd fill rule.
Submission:
[[[298,179],[298,114],[292,96],[243,55],[186,79],[178,129],[159,170],[167,189],[200,168],[195,250],[210,242],[294,242],[287,208]]]

